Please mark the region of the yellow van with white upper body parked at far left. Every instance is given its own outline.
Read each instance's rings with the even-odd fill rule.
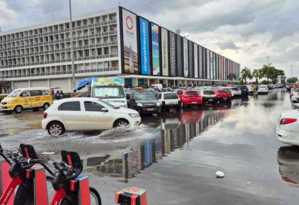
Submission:
[[[48,88],[20,88],[12,91],[1,101],[0,109],[21,113],[23,109],[47,109],[52,103]]]

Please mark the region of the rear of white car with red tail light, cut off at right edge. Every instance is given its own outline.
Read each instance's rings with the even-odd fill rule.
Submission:
[[[299,112],[297,109],[281,113],[276,133],[279,141],[285,144],[299,145]]]

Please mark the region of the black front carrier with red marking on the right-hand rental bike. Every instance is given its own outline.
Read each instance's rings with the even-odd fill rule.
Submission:
[[[72,180],[77,178],[83,170],[83,164],[78,152],[61,150],[61,157],[62,161],[68,166],[64,172],[66,179]]]

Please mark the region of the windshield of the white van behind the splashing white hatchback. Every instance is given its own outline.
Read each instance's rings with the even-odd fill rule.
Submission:
[[[100,99],[125,98],[125,93],[122,86],[95,86],[92,88],[92,97]]]

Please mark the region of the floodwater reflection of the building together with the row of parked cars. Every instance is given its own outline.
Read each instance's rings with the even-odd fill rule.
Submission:
[[[225,110],[230,109],[232,103],[212,106],[213,110],[184,108],[179,111],[162,112],[159,116],[147,116],[143,123],[152,127],[159,127],[160,132],[138,146],[131,147],[127,153],[112,157],[91,157],[86,160],[85,169],[97,176],[119,177],[120,182],[136,177],[140,171],[146,169],[176,149],[184,149],[195,136],[208,130],[220,121]],[[224,110],[224,111],[222,111]],[[188,150],[188,146],[186,148]]]

